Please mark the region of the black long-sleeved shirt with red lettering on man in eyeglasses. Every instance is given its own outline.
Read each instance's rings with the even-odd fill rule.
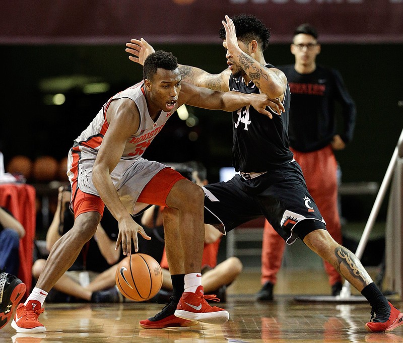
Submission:
[[[290,146],[301,152],[322,149],[330,144],[337,130],[336,106],[342,106],[343,131],[347,144],[353,138],[356,108],[340,73],[317,65],[311,74],[299,74],[294,64],[279,66],[291,90],[288,134]]]

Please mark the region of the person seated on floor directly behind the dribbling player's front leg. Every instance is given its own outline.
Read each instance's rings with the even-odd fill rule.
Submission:
[[[206,177],[206,167],[199,162],[189,161],[183,165],[174,167],[180,174],[193,181],[199,186],[208,183]],[[142,225],[148,228],[159,227],[163,225],[163,208],[159,208],[157,216],[155,216],[155,206],[145,211],[142,217]],[[226,301],[226,287],[230,285],[242,271],[242,262],[239,258],[232,256],[225,261],[217,264],[218,249],[221,241],[221,232],[212,225],[205,225],[205,245],[203,249],[202,278],[206,294],[216,294],[222,302]],[[160,262],[162,268],[162,288],[154,300],[158,302],[168,301],[172,295],[172,281],[170,278],[168,260],[166,258],[165,249]]]

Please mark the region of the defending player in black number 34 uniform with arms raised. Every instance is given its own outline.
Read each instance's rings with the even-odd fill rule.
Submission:
[[[204,188],[205,223],[223,233],[248,220],[264,216],[291,244],[300,238],[311,250],[329,261],[369,301],[375,319],[365,326],[370,331],[390,331],[403,324],[403,313],[394,308],[371,280],[359,259],[335,242],[310,196],[302,171],[289,150],[287,123],[289,86],[282,71],[267,64],[263,51],[270,31],[254,16],[241,15],[222,21],[221,38],[227,49],[228,68],[218,75],[179,65],[182,79],[214,90],[261,92],[281,101],[281,115],[270,117],[243,107],[233,113],[233,164],[240,174],[228,182]],[[131,40],[129,58],[142,63],[154,51],[145,40]],[[265,156],[268,154],[269,156]],[[250,169],[249,169],[250,168]],[[401,320],[399,322],[399,320]]]

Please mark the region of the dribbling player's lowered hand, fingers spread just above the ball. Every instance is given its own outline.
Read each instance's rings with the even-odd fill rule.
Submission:
[[[131,255],[131,241],[135,245],[135,251],[139,251],[139,240],[137,238],[137,233],[140,233],[144,239],[150,240],[151,237],[146,234],[144,229],[133,221],[131,218],[123,219],[119,222],[119,234],[116,240],[115,250],[118,248],[119,244],[122,244],[123,255]]]

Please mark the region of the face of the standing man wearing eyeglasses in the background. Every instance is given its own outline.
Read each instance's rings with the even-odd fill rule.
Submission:
[[[310,65],[320,53],[320,44],[311,35],[300,33],[294,37],[291,52],[297,64]]]

